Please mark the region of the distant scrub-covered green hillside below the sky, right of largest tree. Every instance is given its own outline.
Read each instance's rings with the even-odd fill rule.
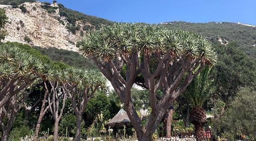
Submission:
[[[248,55],[256,57],[256,27],[230,22],[190,23],[168,22],[165,27],[176,30],[189,30],[207,37],[220,37],[228,42],[236,42]],[[253,46],[254,45],[254,46]]]

